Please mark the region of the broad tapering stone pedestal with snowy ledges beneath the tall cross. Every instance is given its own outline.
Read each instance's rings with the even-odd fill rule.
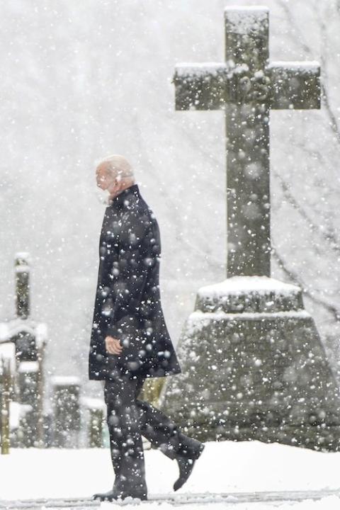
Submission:
[[[338,450],[339,388],[302,290],[234,276],[198,290],[160,407],[188,435]]]

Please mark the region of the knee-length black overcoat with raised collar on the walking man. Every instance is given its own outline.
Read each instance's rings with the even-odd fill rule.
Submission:
[[[133,184],[111,200],[103,218],[90,379],[110,379],[121,368],[147,378],[181,373],[161,305],[160,256],[159,225]],[[107,335],[120,339],[119,356],[106,351]]]

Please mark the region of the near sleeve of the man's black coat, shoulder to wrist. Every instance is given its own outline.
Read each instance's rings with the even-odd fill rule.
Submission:
[[[106,334],[119,338],[118,319],[134,315],[140,307],[140,298],[147,282],[149,268],[159,256],[159,243],[154,237],[148,215],[126,222],[118,243],[118,256],[111,269],[112,302]]]

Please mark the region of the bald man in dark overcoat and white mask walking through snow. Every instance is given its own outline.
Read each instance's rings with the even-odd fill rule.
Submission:
[[[103,381],[115,482],[94,499],[147,499],[141,436],[176,459],[174,490],[188,480],[205,446],[137,399],[145,378],[181,373],[160,299],[159,226],[124,157],[103,159],[96,181],[108,193],[108,207],[99,242],[89,378]]]

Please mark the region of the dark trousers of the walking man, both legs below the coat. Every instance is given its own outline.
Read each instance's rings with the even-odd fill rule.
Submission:
[[[185,436],[159,409],[137,399],[145,377],[130,372],[116,373],[105,380],[104,397],[115,483],[123,494],[147,494],[142,437],[167,457],[197,458],[202,443]]]

